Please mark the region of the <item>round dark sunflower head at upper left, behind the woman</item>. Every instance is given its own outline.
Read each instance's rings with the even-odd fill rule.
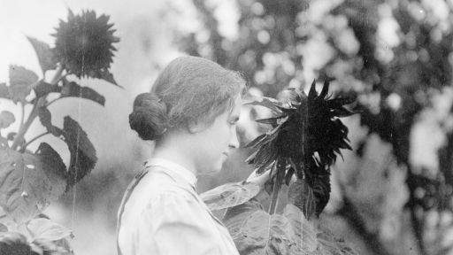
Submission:
[[[56,28],[54,54],[68,73],[77,77],[105,78],[109,75],[113,51],[113,42],[119,42],[114,36],[109,16],[96,17],[94,11],[82,11],[74,15],[71,10],[67,22],[60,19]]]

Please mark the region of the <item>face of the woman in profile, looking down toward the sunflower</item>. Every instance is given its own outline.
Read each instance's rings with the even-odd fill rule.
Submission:
[[[234,100],[233,110],[220,114],[208,128],[196,133],[196,169],[198,174],[218,173],[228,155],[239,147],[236,123],[241,114],[242,97]]]

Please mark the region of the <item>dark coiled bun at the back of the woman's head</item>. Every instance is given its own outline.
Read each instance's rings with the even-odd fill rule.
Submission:
[[[135,97],[134,110],[129,114],[129,125],[143,140],[156,140],[167,127],[166,106],[151,93]]]

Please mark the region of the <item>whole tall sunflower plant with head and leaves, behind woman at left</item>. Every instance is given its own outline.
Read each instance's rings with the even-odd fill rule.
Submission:
[[[115,30],[108,21],[108,16],[96,17],[94,11],[74,15],[69,10],[68,21],[61,21],[57,28],[54,48],[27,37],[35,49],[42,76],[54,71],[53,78],[45,81],[25,67],[12,65],[9,84],[0,83],[0,99],[20,103],[24,113],[25,107],[32,107],[27,118],[25,114],[21,116],[17,132],[5,136],[0,133],[2,252],[72,254],[68,242],[68,237],[72,237],[70,230],[42,218],[42,211],[93,170],[96,150],[81,125],[71,117],[64,117],[62,128],[54,126],[49,105],[66,97],[77,97],[104,106],[104,96],[79,85],[77,78],[99,78],[118,85],[109,69],[115,50],[112,43],[119,42],[119,38],[113,35]],[[70,80],[72,75],[75,77]],[[50,94],[56,96],[52,101],[48,100]],[[66,143],[70,152],[69,166],[65,166],[49,143],[40,143],[35,152],[27,148],[42,137],[25,139],[36,118],[46,129],[42,135],[55,135]],[[0,132],[15,121],[12,112],[0,112]],[[26,226],[27,231],[20,226]]]

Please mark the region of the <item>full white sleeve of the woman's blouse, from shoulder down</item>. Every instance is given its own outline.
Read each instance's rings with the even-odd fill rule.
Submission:
[[[153,197],[141,218],[137,237],[144,240],[137,240],[136,254],[221,253],[212,222],[189,195],[166,192]]]

